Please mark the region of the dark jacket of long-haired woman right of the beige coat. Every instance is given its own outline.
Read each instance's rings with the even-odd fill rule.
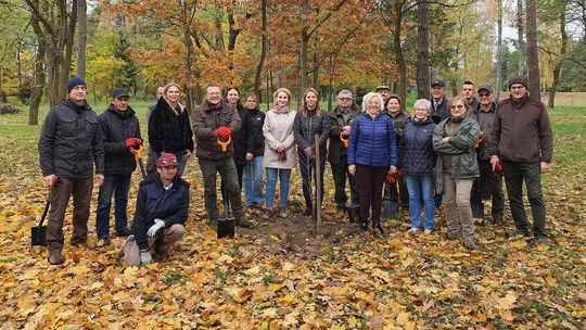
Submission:
[[[304,157],[304,150],[307,147],[311,147],[311,150],[316,152],[315,135],[317,134],[319,136],[320,154],[323,156],[328,153],[326,142],[330,137],[330,116],[323,111],[319,117],[316,116],[315,111],[310,111],[307,117],[297,112],[293,123],[293,134],[297,144],[297,153]]]

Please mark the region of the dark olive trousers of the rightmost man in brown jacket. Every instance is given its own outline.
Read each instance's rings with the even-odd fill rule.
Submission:
[[[546,207],[542,193],[542,168],[539,163],[520,163],[504,161],[505,183],[511,206],[511,214],[517,230],[528,234],[527,216],[523,205],[523,180],[527,189],[527,198],[533,214],[533,233],[546,237]]]

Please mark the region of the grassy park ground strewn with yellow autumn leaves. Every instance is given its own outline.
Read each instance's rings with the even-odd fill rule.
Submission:
[[[284,220],[216,240],[205,225],[196,162],[187,237],[170,258],[127,267],[122,239],[105,249],[65,244],[63,266],[30,246],[47,190],[38,169],[40,127],[0,116],[1,329],[585,329],[586,114],[551,112],[556,150],[544,177],[550,243],[511,240],[507,225],[479,227],[480,248],[436,231],[409,236],[406,214],[386,238],[361,233],[332,205],[329,172],[323,234],[294,212]],[[293,176],[293,204],[301,179]],[[133,177],[132,215],[138,174]],[[95,195],[90,217],[94,238]],[[71,237],[71,213],[65,233]]]

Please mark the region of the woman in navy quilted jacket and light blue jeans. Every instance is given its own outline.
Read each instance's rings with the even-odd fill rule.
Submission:
[[[403,127],[403,139],[399,142],[400,166],[407,176],[409,191],[410,233],[418,232],[421,227],[421,201],[425,212],[424,233],[433,230],[435,202],[433,199],[435,152],[433,151],[433,130],[435,124],[431,118],[431,102],[417,100],[413,117]]]

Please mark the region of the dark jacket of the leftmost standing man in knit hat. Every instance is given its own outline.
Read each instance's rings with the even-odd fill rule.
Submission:
[[[39,139],[42,175],[87,179],[104,173],[102,130],[95,112],[86,103],[67,100],[49,111]]]

